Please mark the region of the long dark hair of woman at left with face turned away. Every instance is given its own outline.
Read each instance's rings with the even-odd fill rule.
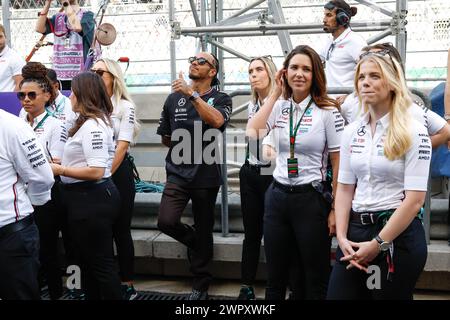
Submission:
[[[112,126],[113,105],[98,74],[82,72],[75,76],[72,79],[72,92],[77,98],[79,116],[73,128],[69,130],[69,137],[72,137],[88,119],[96,121],[102,119],[107,125]]]

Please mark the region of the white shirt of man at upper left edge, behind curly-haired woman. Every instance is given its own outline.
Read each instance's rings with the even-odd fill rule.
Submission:
[[[13,92],[16,84],[13,77],[22,74],[25,60],[8,46],[0,52],[0,92]]]

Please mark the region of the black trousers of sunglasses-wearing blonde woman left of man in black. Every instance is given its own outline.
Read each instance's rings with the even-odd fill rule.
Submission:
[[[133,165],[127,156],[114,172],[112,179],[119,190],[121,199],[119,217],[113,225],[113,238],[117,248],[120,278],[123,282],[128,282],[134,278],[134,245],[131,238],[131,219],[136,189]]]

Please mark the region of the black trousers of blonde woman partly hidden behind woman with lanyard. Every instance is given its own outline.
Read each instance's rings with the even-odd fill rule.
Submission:
[[[241,281],[253,285],[259,263],[263,236],[264,195],[272,183],[271,175],[261,175],[260,169],[244,164],[239,171],[244,243],[242,245]]]

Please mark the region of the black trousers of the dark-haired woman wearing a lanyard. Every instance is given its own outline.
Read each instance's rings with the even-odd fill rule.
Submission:
[[[267,300],[285,299],[289,269],[296,254],[297,284],[303,286],[298,288],[302,291],[299,296],[309,300],[326,297],[330,274],[330,205],[311,189],[291,193],[274,184],[267,189],[264,212]]]

